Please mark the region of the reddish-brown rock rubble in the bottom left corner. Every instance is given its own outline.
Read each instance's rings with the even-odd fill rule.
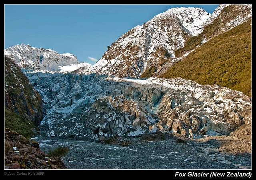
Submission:
[[[5,128],[5,169],[66,169],[62,161],[56,162],[39,149],[39,144]]]

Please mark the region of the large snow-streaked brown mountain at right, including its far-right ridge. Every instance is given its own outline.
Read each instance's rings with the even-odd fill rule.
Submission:
[[[176,58],[174,52],[184,47],[186,40],[202,33],[214,20],[220,20],[218,30],[202,43],[241,24],[251,15],[251,4],[222,4],[213,14],[201,8],[169,9],[123,34],[85,73],[140,77],[147,69],[156,67],[159,74],[182,59]]]

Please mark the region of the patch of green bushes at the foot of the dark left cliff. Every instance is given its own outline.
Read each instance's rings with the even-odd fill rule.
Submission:
[[[33,123],[29,123],[26,119],[7,108],[4,108],[4,126],[26,138],[35,136],[35,131],[38,131],[38,128]]]

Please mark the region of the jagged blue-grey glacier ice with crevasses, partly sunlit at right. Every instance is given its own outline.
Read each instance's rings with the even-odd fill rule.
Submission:
[[[26,74],[41,94],[42,136],[97,139],[173,132],[228,135],[250,124],[251,99],[218,85],[181,78],[127,79],[108,75]]]

